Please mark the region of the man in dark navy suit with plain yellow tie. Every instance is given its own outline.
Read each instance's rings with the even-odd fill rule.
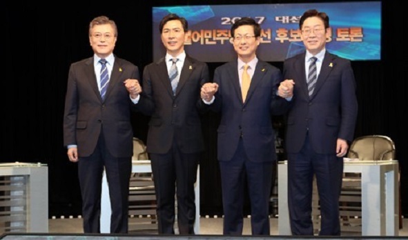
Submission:
[[[252,234],[270,234],[269,197],[276,161],[271,115],[284,114],[289,103],[277,95],[280,70],[256,57],[260,34],[255,20],[243,17],[235,21],[231,41],[237,59],[218,67],[214,83],[207,83],[201,92],[211,110],[221,112],[217,151],[223,232],[229,235],[242,234],[245,186],[251,201]]]

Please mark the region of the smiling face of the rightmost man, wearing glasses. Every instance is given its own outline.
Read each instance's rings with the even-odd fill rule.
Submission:
[[[319,17],[309,17],[302,26],[302,41],[306,49],[313,55],[318,54],[326,46],[326,37],[329,34]]]

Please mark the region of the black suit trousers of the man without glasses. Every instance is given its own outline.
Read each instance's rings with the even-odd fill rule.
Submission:
[[[175,234],[175,194],[179,234],[195,234],[194,183],[200,154],[182,153],[173,143],[168,153],[149,155],[155,182],[159,234]]]

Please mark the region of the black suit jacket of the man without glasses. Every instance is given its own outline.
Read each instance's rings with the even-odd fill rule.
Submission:
[[[204,150],[200,112],[200,89],[209,81],[208,66],[186,55],[175,96],[171,89],[165,58],[150,63],[143,71],[143,92],[137,109],[151,115],[146,143],[150,153],[164,154],[173,139],[184,153]]]

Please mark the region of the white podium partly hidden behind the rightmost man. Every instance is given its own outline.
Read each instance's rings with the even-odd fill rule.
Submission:
[[[362,235],[398,236],[398,161],[345,161],[343,172],[361,173]],[[278,163],[278,232],[291,235],[287,161]]]

